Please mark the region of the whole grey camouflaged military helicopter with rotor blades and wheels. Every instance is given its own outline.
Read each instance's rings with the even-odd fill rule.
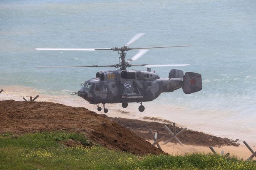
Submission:
[[[161,46],[161,47],[143,47],[129,48],[128,46],[139,39],[144,33],[136,34],[125,46],[107,48],[107,49],[40,49],[36,50],[68,50],[68,51],[96,51],[96,50],[112,50],[118,51],[119,63],[105,66],[38,66],[38,68],[64,68],[64,67],[114,67],[117,70],[101,70],[96,73],[96,77],[86,80],[82,84],[82,88],[75,92],[90,104],[96,104],[97,110],[102,108],[107,113],[106,103],[122,103],[122,107],[126,108],[128,103],[137,102],[140,104],[139,111],[143,112],[145,107],[142,102],[149,102],[157,97],[162,92],[173,92],[179,88],[183,89],[185,94],[198,92],[202,89],[201,74],[186,72],[182,70],[172,69],[169,72],[168,78],[160,78],[160,76],[151,71],[151,67],[174,67],[174,66],[189,66],[190,64],[164,64],[164,65],[149,65],[149,64],[130,64],[143,56],[149,49],[157,48],[173,48],[185,46]],[[139,52],[132,58],[126,60],[126,53],[129,50],[138,49]],[[128,67],[144,66],[147,71],[143,70],[127,70]]]

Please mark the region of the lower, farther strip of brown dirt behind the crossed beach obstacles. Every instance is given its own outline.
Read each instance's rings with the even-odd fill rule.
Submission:
[[[164,128],[164,125],[173,131],[173,126],[171,124],[162,124],[158,122],[152,121],[141,121],[136,119],[124,119],[124,118],[112,118],[113,121],[116,121],[118,124],[134,131],[137,135],[141,136],[145,140],[153,140],[153,137],[149,134],[148,129],[150,128],[154,133],[157,132],[157,138],[161,138],[162,136],[166,136],[166,139],[171,138],[168,135],[168,131]],[[161,119],[162,121],[162,119]],[[176,132],[181,131],[181,128],[176,126]],[[186,130],[181,135],[178,136],[181,143],[189,144],[189,145],[197,145],[197,146],[223,146],[223,145],[233,145],[238,146],[238,144],[228,138],[220,138],[216,136],[212,136],[209,134],[204,134],[198,131]]]

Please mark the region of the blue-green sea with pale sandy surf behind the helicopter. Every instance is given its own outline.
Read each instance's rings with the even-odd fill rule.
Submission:
[[[119,63],[115,51],[36,51],[34,48],[112,48],[179,46],[152,49],[134,64],[182,64],[201,73],[203,89],[186,95],[163,93],[152,102],[106,104],[109,116],[144,116],[175,121],[189,129],[256,142],[256,2],[253,0],[1,0],[0,100],[91,105],[77,96],[80,83],[112,68],[36,68]],[[127,58],[137,53],[128,51]],[[132,68],[135,69],[135,68]],[[145,70],[137,67],[138,70]],[[152,68],[167,78],[171,67]]]

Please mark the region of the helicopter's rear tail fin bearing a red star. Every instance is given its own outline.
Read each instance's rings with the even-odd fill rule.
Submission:
[[[183,92],[186,94],[202,90],[202,76],[199,73],[186,72],[183,78]]]

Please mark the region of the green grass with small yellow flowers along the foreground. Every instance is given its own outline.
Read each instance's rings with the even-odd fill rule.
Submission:
[[[72,139],[82,143],[67,147]],[[83,135],[42,132],[0,135],[0,169],[241,169],[256,170],[256,161],[224,158],[212,154],[133,155],[91,142]]]

